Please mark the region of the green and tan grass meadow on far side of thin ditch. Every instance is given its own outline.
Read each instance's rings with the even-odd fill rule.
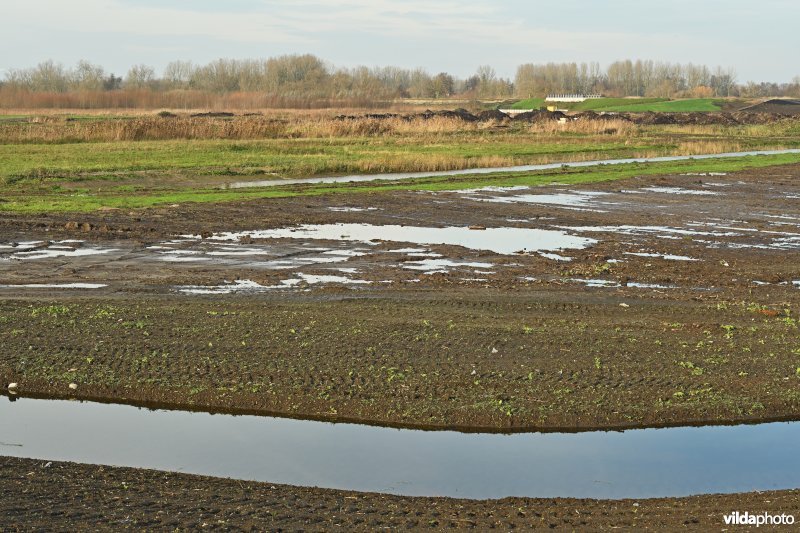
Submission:
[[[542,157],[576,153],[611,158],[632,150],[657,149],[652,139],[627,143],[607,138],[531,142],[523,137],[449,136],[430,142],[393,138],[279,139],[258,141],[138,141],[115,143],[0,145],[0,180],[6,184],[31,178],[100,180],[131,172],[192,172],[213,174],[277,173],[280,176],[424,171],[450,165],[470,165],[481,158],[503,158],[505,164],[525,164]],[[455,164],[455,163],[453,163]],[[449,168],[457,168],[451,166]],[[463,166],[462,166],[463,168]]]

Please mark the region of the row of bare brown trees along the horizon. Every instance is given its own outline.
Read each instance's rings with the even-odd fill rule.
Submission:
[[[705,65],[625,60],[602,68],[599,63],[527,63],[514,79],[489,65],[466,78],[446,72],[398,67],[337,68],[313,55],[268,59],[218,59],[198,65],[173,61],[157,74],[134,65],[124,76],[79,61],[65,67],[44,61],[6,72],[0,97],[23,93],[102,93],[194,91],[212,95],[258,93],[273,100],[376,101],[396,98],[528,98],[548,93],[602,93],[607,96],[727,97],[800,96],[800,76],[792,83],[739,83],[734,69]],[[2,103],[2,102],[0,102]]]

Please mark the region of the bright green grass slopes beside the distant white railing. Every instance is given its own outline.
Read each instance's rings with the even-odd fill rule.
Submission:
[[[539,109],[546,106],[544,98],[528,98],[513,104],[511,109]],[[667,98],[595,98],[584,102],[564,102],[558,104],[570,111],[611,111],[611,112],[694,112],[719,111],[721,107],[713,98],[690,98],[669,100]]]

